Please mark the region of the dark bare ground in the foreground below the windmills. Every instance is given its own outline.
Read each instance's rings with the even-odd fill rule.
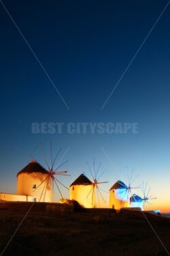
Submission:
[[[0,255],[31,203],[0,203]],[[146,215],[170,252],[170,219]],[[169,255],[141,212],[35,203],[3,255]]]

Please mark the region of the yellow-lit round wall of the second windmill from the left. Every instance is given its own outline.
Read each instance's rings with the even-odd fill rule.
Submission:
[[[95,208],[95,193],[92,197],[92,185],[70,186],[70,199],[78,201],[84,208]],[[90,192],[90,195],[88,193]],[[88,198],[86,198],[88,195]]]

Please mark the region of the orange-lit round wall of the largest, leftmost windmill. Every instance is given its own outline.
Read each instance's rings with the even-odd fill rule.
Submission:
[[[48,184],[41,184],[48,174],[46,173],[20,173],[17,176],[17,195],[28,195],[36,199],[37,202],[51,202],[52,201],[52,186],[51,182]],[[39,186],[41,184],[41,186]],[[35,190],[33,186],[39,186]],[[45,186],[47,185],[47,186]],[[44,193],[42,194],[44,190]],[[46,195],[45,195],[46,192]],[[42,195],[42,196],[41,196]],[[41,197],[41,199],[40,199]]]

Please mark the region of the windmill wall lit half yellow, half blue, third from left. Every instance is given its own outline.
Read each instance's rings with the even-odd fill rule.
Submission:
[[[109,208],[120,210],[129,207],[129,193],[126,188],[109,190]]]

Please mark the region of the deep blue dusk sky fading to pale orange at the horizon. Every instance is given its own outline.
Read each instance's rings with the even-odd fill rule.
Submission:
[[[165,8],[162,1],[4,1],[46,74],[0,3],[0,190],[15,192],[16,173],[41,141],[59,147],[69,184],[95,158],[107,169],[108,190],[126,167],[150,184],[157,205],[170,189],[170,6],[101,110],[137,49]],[[33,122],[135,122],[137,134],[33,134]],[[44,165],[40,150],[34,152]],[[126,180],[126,178],[125,178]],[[162,207],[161,206],[161,207]],[[160,207],[160,208],[161,208]]]

